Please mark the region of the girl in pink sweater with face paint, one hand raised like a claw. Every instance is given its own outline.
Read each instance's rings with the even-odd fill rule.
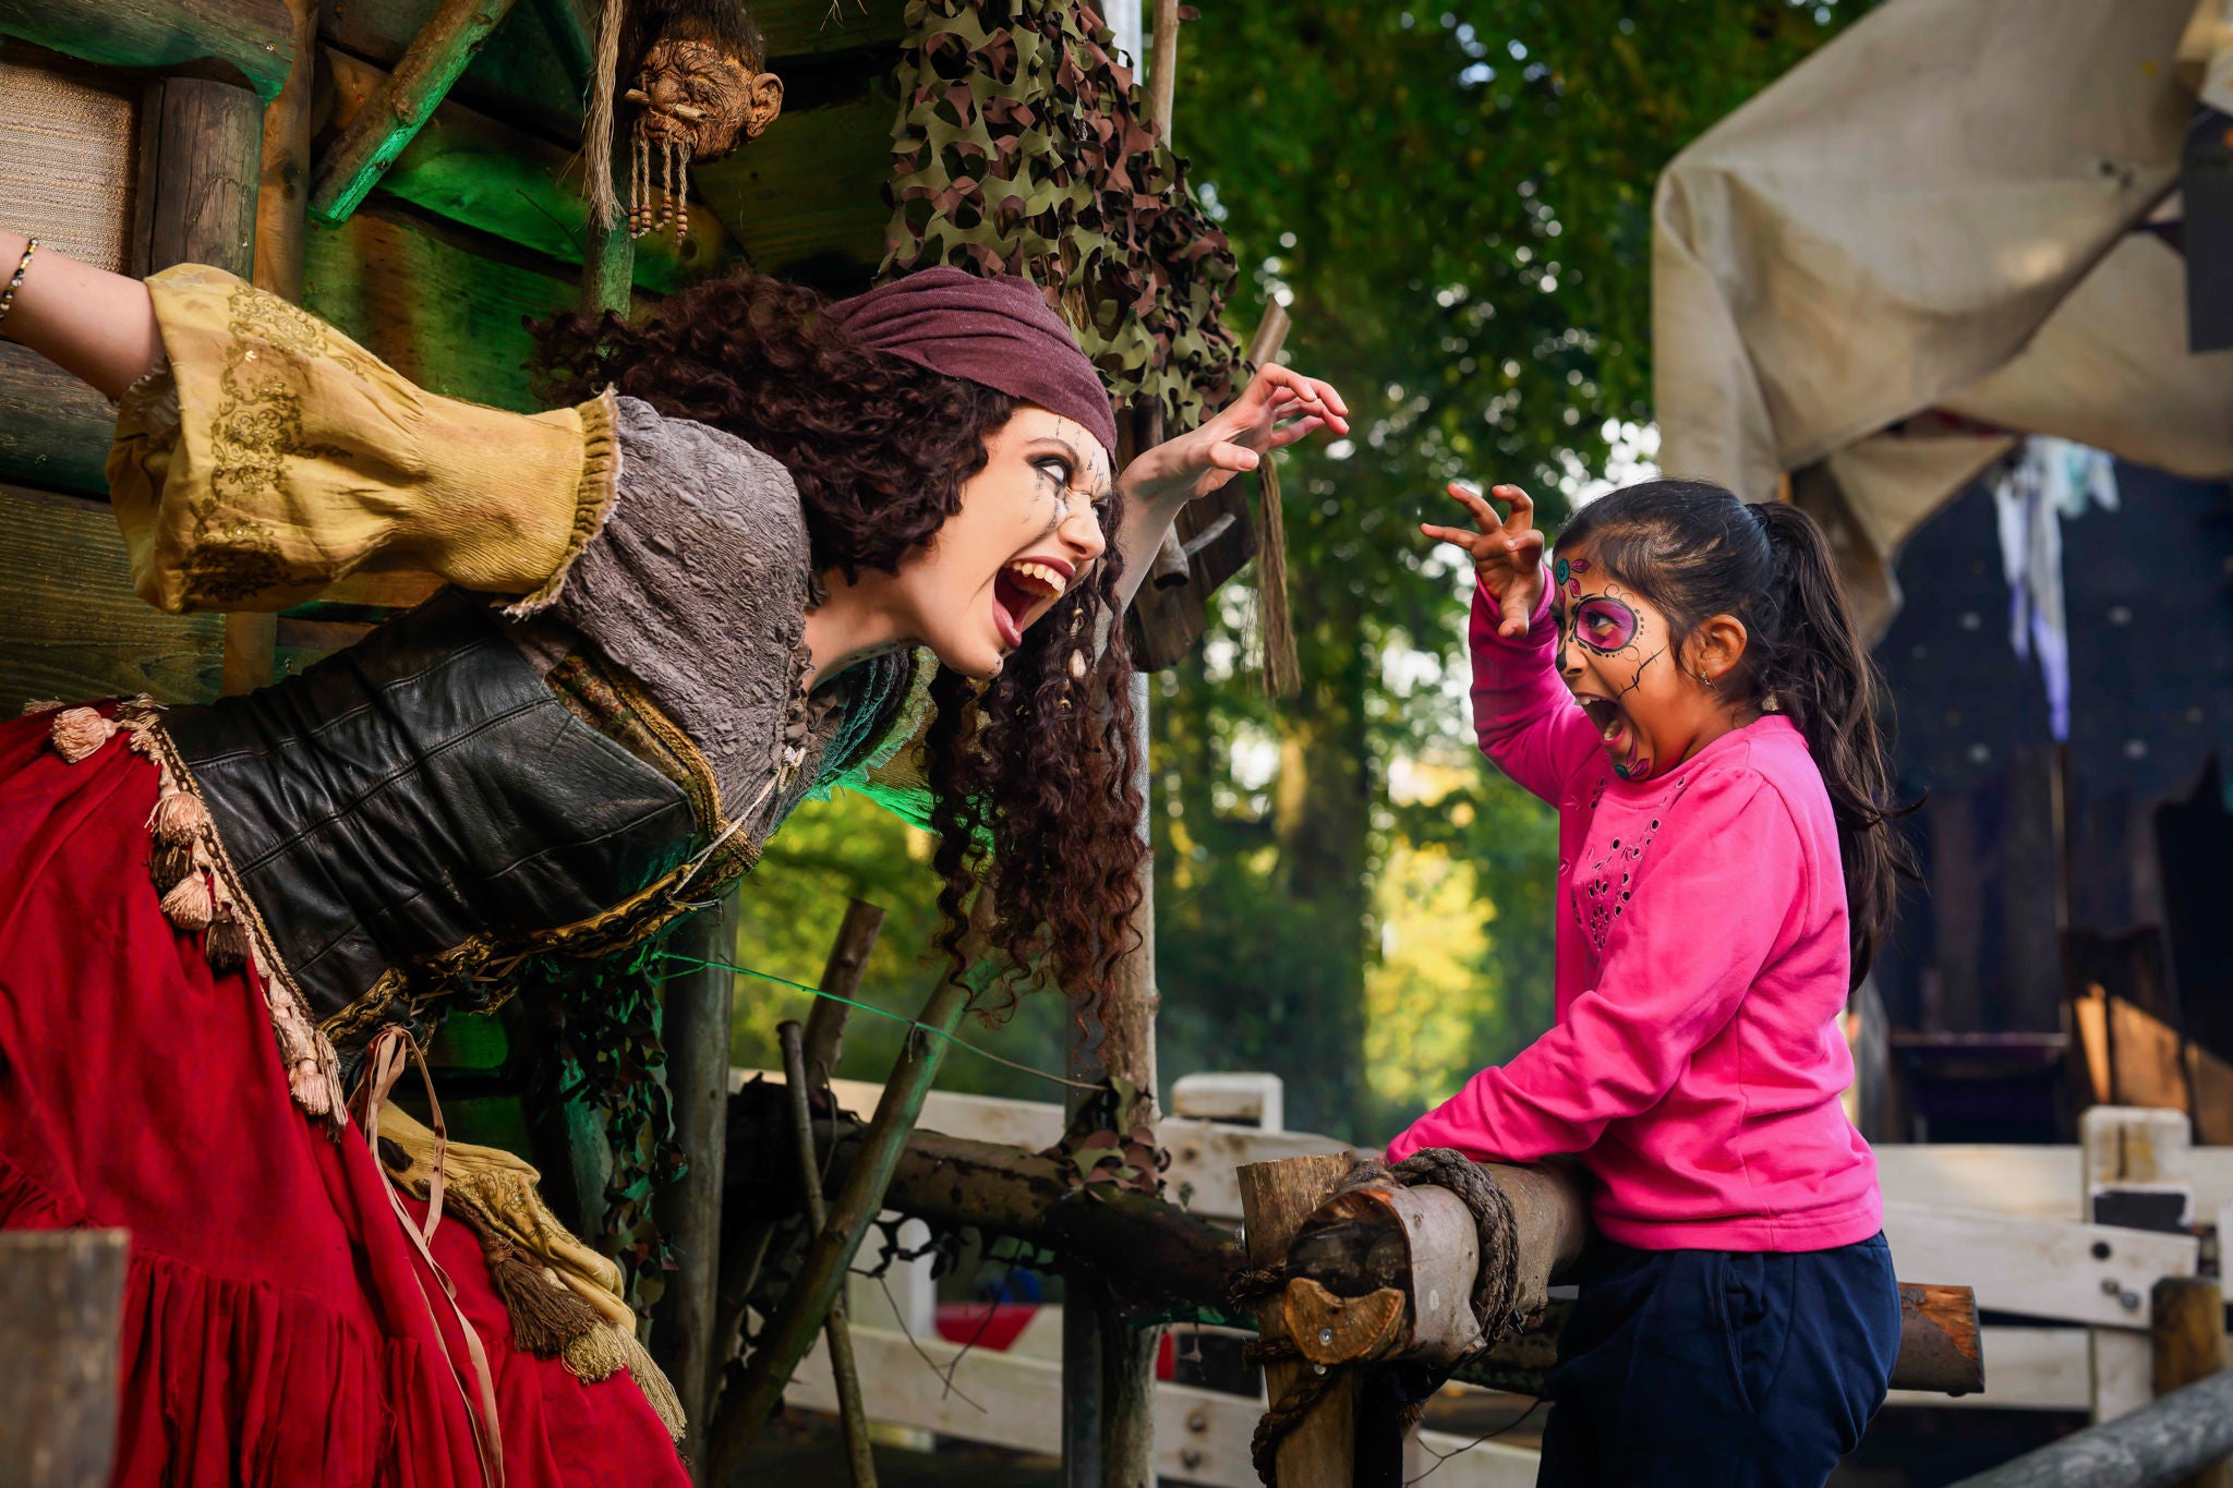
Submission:
[[[1655,480],[1545,567],[1516,486],[1474,558],[1480,747],[1559,805],[1556,1026],[1420,1118],[1422,1147],[1581,1153],[1599,1243],[1539,1484],[1820,1488],[1885,1399],[1900,1301],[1838,1093],[1891,915],[1873,678],[1820,529]]]

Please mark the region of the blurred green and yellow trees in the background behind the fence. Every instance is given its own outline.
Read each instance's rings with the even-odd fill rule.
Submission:
[[[1271,1069],[1291,1124],[1384,1140],[1550,1024],[1556,821],[1474,752],[1467,573],[1416,524],[1456,511],[1458,475],[1525,484],[1554,522],[1650,424],[1659,170],[1860,9],[1199,0],[1172,132],[1253,279],[1230,315],[1288,303],[1286,359],[1355,428],[1282,462],[1302,696],[1262,696],[1248,576],[1157,678],[1166,1084]],[[746,964],[813,982],[853,892],[893,910],[871,991],[913,1011],[933,881],[907,834],[860,801],[799,812],[746,895]],[[790,1004],[741,995],[739,1057],[770,1057]],[[849,1073],[882,1078],[895,1026],[853,1031]],[[971,1037],[1061,1069],[1065,1035],[1036,999]]]

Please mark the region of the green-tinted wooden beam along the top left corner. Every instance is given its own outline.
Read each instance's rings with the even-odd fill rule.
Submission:
[[[281,0],[0,0],[0,36],[103,67],[217,58],[239,67],[263,103],[295,62],[295,20]]]

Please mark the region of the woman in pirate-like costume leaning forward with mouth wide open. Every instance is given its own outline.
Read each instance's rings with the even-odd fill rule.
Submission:
[[[4,263],[0,335],[121,399],[143,598],[447,584],[243,698],[0,725],[0,1227],[132,1231],[116,1481],[683,1484],[619,1272],[382,1109],[411,1037],[643,946],[842,781],[927,803],[953,973],[991,881],[1009,977],[1099,995],[1119,613],[1186,500],[1346,410],[1264,368],[1112,477],[1061,319],[956,270],[565,319],[569,406],[516,415],[219,270]]]

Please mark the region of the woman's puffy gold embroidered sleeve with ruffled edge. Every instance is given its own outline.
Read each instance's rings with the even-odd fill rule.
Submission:
[[[357,571],[527,596],[612,506],[610,397],[536,415],[438,397],[199,263],[147,292],[170,366],[125,393],[107,473],[159,609],[286,609]]]

